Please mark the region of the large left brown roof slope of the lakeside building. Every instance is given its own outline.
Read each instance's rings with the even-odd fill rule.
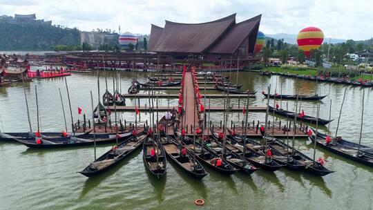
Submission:
[[[187,24],[166,21],[162,35],[152,50],[155,52],[203,53],[235,21],[236,14],[207,23]]]

